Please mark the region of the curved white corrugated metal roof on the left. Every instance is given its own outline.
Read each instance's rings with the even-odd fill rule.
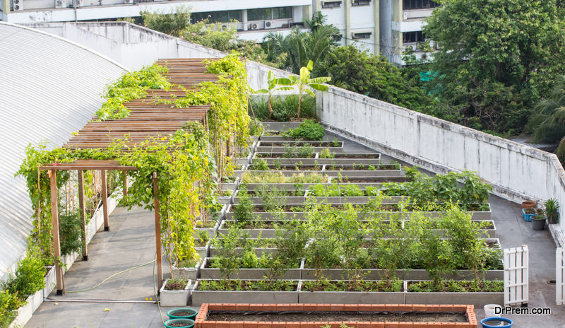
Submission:
[[[93,117],[106,84],[124,70],[69,40],[0,22],[0,279],[25,251],[31,229],[25,180],[14,177],[25,147],[61,146]]]

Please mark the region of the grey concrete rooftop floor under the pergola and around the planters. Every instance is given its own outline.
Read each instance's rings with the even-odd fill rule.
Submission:
[[[333,136],[326,137],[333,139]],[[343,140],[342,138],[339,138]],[[349,152],[371,151],[359,144],[346,141]],[[383,156],[383,160],[393,160]],[[549,307],[552,315],[506,315],[514,321],[513,327],[565,328],[565,306],[555,305],[555,286],[547,281],[555,278],[555,245],[548,230],[535,231],[531,223],[522,219],[518,204],[492,196],[490,199],[496,233],[504,248],[527,244],[530,248],[530,303],[529,307]],[[108,276],[150,262],[155,257],[155,230],[153,213],[134,208],[116,209],[110,216],[110,232],[100,231],[89,247],[90,260],[77,261],[65,276],[66,291],[95,286]],[[167,273],[167,266],[163,268]],[[78,303],[64,300],[136,300],[153,298],[153,264],[127,271],[110,279],[92,291],[50,295],[55,302],[45,302],[25,327],[163,327],[159,309],[153,303]],[[464,303],[464,300],[461,300]],[[163,307],[162,314],[166,317]],[[477,319],[484,318],[482,309]],[[480,325],[479,325],[480,327]]]

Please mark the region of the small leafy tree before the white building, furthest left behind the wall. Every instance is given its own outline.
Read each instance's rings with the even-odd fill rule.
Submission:
[[[173,13],[141,11],[143,25],[151,30],[178,37],[180,32],[190,25],[190,11],[185,6],[178,6]]]

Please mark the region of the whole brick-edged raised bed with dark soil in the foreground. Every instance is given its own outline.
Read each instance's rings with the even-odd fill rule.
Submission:
[[[217,303],[203,304],[195,320],[195,328],[319,328],[326,324],[331,328],[340,328],[340,324],[356,328],[476,328],[477,319],[473,305]]]

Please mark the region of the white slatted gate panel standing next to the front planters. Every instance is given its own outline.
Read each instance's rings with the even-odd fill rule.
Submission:
[[[504,250],[504,305],[528,304],[528,245]]]

